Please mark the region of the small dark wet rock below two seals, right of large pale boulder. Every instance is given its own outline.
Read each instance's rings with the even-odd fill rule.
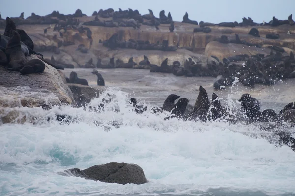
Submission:
[[[99,89],[81,84],[68,84],[77,107],[90,103],[92,98],[99,98]]]

